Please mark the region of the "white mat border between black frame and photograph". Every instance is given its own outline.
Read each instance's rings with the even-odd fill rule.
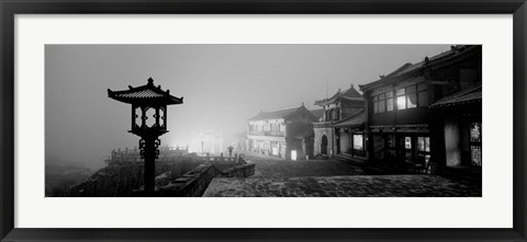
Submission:
[[[46,44],[481,44],[483,197],[46,198]],[[512,228],[512,93],[505,14],[16,15],[15,228]]]

